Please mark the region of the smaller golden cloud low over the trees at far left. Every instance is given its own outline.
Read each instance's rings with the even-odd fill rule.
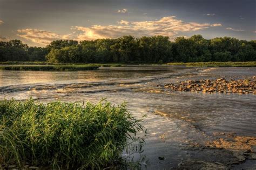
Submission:
[[[23,29],[18,30],[17,36],[25,38],[27,40],[31,40],[33,43],[38,43],[42,45],[48,45],[53,40],[57,39],[72,39],[72,35],[59,35],[57,33],[44,31],[44,30],[38,30],[38,29]]]

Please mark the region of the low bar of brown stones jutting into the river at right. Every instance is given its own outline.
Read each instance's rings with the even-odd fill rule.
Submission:
[[[204,93],[240,93],[256,94],[256,76],[245,79],[205,79],[178,81],[176,84],[166,84],[165,89],[172,91],[191,91]]]

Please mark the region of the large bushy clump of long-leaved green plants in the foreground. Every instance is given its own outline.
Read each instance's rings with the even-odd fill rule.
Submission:
[[[0,164],[53,169],[112,167],[138,131],[125,104],[0,101]],[[143,139],[144,142],[144,139]],[[140,145],[141,146],[141,145]]]

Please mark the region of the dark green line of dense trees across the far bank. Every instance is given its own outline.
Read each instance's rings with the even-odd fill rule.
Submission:
[[[204,39],[152,36],[117,39],[54,40],[46,47],[29,47],[21,40],[0,42],[0,62],[46,61],[50,63],[167,63],[247,62],[256,60],[256,40],[232,37]]]

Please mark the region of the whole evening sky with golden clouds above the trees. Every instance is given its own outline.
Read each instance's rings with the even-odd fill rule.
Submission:
[[[163,35],[256,39],[256,0],[0,0],[0,40]]]

